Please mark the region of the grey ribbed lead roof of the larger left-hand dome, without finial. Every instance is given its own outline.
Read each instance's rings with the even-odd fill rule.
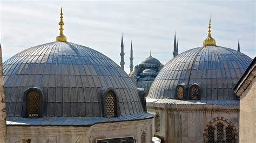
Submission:
[[[42,90],[43,117],[103,116],[106,87],[116,91],[120,116],[144,112],[124,70],[107,56],[71,42],[25,49],[3,63],[3,74],[8,117],[22,117],[24,92],[30,87]]]

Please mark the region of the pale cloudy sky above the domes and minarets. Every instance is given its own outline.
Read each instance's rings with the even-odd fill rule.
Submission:
[[[60,7],[68,41],[95,49],[120,62],[124,35],[125,70],[152,56],[165,64],[173,58],[176,31],[179,53],[200,47],[212,19],[218,46],[237,49],[254,58],[255,1],[1,1],[3,60],[26,48],[55,41]]]

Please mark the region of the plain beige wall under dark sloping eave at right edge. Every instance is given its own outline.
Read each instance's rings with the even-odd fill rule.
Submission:
[[[256,69],[254,71],[256,73]],[[256,141],[256,78],[240,96],[240,142]]]

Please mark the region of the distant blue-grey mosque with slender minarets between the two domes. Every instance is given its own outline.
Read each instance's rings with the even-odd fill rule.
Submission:
[[[173,44],[173,57],[177,56],[179,54],[178,52],[178,41],[176,41],[176,33],[174,34],[174,44]],[[121,61],[120,66],[124,70],[124,42],[123,42],[123,34],[122,34],[122,40],[121,40]],[[130,52],[130,74],[132,81],[136,85],[137,88],[143,88],[145,95],[149,93],[149,89],[151,87],[151,84],[153,83],[154,79],[156,78],[157,74],[163,68],[164,65],[156,58],[153,58],[150,55],[148,58],[145,58],[142,60],[142,62],[139,63],[139,65],[134,67],[133,70],[133,49],[132,49],[132,42],[131,42],[131,52]]]

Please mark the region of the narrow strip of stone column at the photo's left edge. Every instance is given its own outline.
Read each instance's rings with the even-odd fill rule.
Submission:
[[[4,96],[4,78],[3,78],[3,60],[2,47],[0,44],[0,142],[6,142],[6,112],[5,112],[5,96]]]

